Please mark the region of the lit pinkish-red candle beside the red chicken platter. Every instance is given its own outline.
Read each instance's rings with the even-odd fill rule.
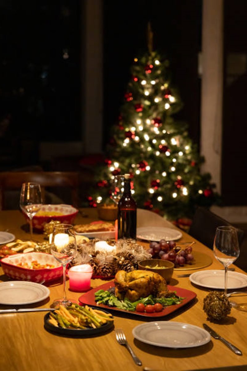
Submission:
[[[90,264],[81,264],[71,267],[68,271],[70,290],[84,292],[90,290],[93,268]]]

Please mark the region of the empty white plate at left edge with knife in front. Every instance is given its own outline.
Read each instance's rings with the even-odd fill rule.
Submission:
[[[0,283],[0,304],[23,305],[48,298],[50,290],[40,283],[10,281]]]

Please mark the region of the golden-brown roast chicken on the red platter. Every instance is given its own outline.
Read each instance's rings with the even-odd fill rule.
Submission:
[[[119,270],[115,276],[115,295],[118,299],[128,298],[134,302],[148,295],[167,297],[171,294],[167,289],[166,280],[158,273],[149,270]]]

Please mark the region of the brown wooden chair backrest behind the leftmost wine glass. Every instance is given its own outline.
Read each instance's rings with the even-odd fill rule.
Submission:
[[[6,192],[21,190],[26,182],[39,183],[44,198],[47,188],[64,188],[70,191],[71,204],[79,206],[79,173],[74,171],[8,171],[0,173],[0,209],[8,209]],[[17,205],[18,207],[19,205]]]

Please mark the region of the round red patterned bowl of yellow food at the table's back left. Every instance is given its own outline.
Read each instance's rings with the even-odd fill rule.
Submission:
[[[60,223],[73,224],[78,210],[71,205],[42,205],[41,209],[33,217],[33,229],[36,232],[43,232],[44,224],[51,220],[58,220]]]

